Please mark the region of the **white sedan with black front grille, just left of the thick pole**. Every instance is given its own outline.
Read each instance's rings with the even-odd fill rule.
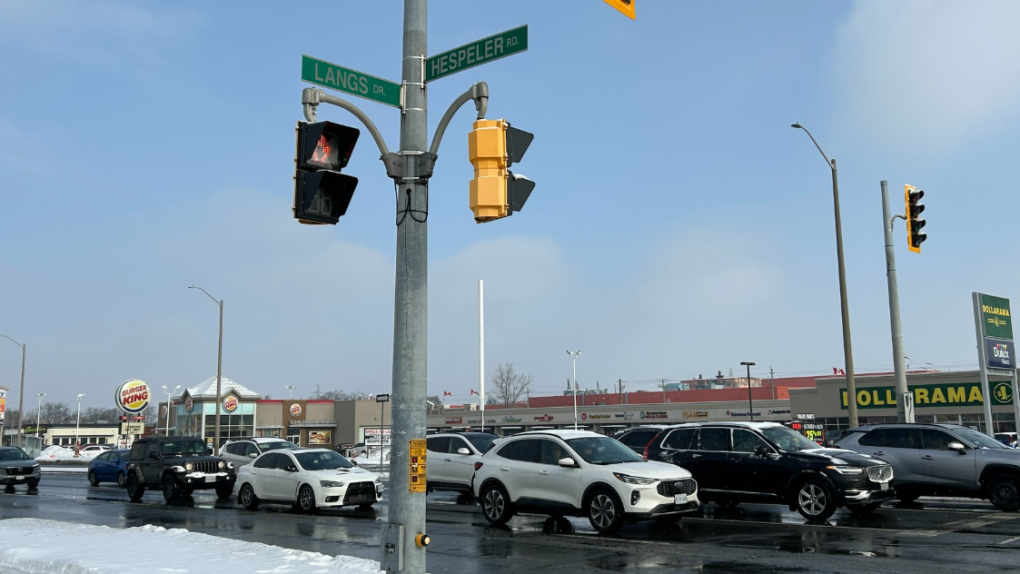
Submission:
[[[238,504],[370,508],[382,498],[378,474],[358,468],[328,449],[269,451],[238,470]]]

